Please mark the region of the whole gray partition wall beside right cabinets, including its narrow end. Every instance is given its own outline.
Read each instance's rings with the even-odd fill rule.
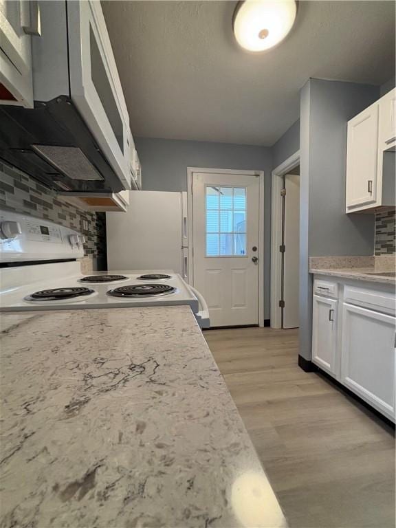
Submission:
[[[347,121],[379,87],[310,79],[300,99],[300,355],[311,358],[307,256],[372,255],[374,215],[345,214]]]

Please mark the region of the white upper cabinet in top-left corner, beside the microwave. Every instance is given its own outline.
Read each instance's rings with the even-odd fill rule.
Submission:
[[[31,34],[39,30],[36,7],[36,1],[0,0],[0,104],[33,107],[30,45]]]

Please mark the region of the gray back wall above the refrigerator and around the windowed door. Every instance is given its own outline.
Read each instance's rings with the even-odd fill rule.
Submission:
[[[187,190],[187,167],[263,170],[265,177],[264,316],[270,318],[271,148],[228,143],[135,138],[144,190]]]

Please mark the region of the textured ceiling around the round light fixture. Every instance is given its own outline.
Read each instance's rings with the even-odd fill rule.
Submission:
[[[250,54],[231,1],[104,1],[133,135],[274,144],[309,77],[380,85],[395,68],[393,1],[300,1],[278,47]]]

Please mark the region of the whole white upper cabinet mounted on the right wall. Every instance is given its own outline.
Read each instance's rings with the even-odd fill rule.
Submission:
[[[347,212],[395,206],[395,94],[348,122]]]

